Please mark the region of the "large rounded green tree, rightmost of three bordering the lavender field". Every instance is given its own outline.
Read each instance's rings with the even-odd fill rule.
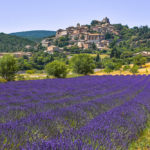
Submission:
[[[75,73],[87,75],[95,68],[93,57],[88,54],[79,54],[71,58],[71,66]]]

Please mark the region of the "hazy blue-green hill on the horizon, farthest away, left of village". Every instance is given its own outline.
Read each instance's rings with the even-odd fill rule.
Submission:
[[[25,31],[25,32],[16,32],[11,33],[11,35],[16,35],[19,37],[27,38],[29,40],[39,42],[45,37],[55,36],[55,31],[46,31],[46,30],[35,30],[35,31]]]

